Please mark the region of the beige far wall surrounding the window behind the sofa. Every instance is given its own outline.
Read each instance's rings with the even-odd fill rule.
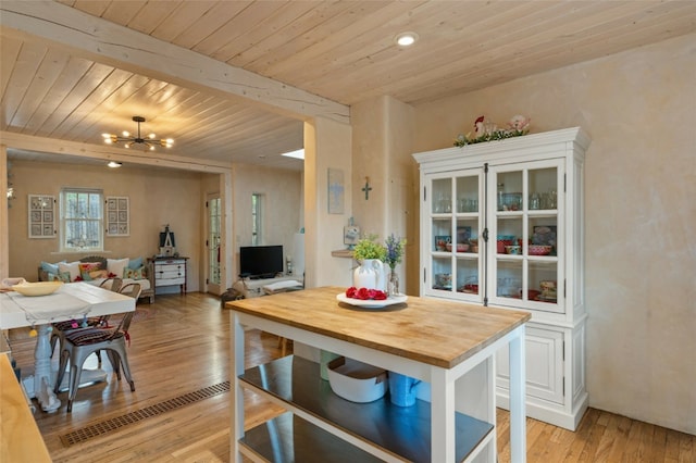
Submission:
[[[104,196],[125,196],[130,200],[130,235],[105,237],[105,252],[100,254],[110,258],[151,256],[159,251],[159,233],[165,224],[170,224],[175,234],[177,251],[190,258],[188,290],[199,290],[199,224],[203,204],[200,174],[174,170],[128,166],[111,170],[101,165],[26,161],[12,161],[11,168],[17,198],[12,201],[8,211],[10,275],[35,281],[36,267],[41,261],[73,261],[94,254],[60,252],[58,236],[53,239],[29,239],[28,195],[52,195],[58,200],[62,187],[99,188]]]

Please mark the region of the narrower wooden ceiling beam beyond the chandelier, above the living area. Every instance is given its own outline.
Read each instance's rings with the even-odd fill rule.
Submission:
[[[89,145],[55,138],[35,137],[32,135],[0,132],[2,146],[24,151],[61,154],[89,160],[101,159],[128,164],[156,167],[179,168],[208,174],[225,174],[232,172],[232,163],[211,161],[198,158],[172,155],[160,152],[142,151],[137,148],[115,148],[109,145]]]

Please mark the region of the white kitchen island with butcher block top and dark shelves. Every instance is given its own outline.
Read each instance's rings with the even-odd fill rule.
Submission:
[[[231,460],[496,461],[495,353],[510,354],[510,446],[525,461],[524,323],[530,314],[435,299],[361,309],[346,288],[231,301]],[[245,371],[245,327],[258,328],[422,380],[419,400],[353,403],[299,355]],[[245,433],[243,389],[287,410]]]

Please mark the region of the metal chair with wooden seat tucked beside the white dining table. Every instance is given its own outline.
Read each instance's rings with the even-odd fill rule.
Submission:
[[[130,283],[121,288],[121,293],[135,298],[140,297],[140,285]],[[130,366],[126,354],[126,341],[129,342],[128,328],[135,312],[127,312],[115,328],[83,328],[65,333],[64,346],[61,350],[60,367],[55,379],[55,392],[60,388],[70,359],[70,381],[67,392],[67,412],[73,410],[73,401],[79,388],[79,377],[82,375],[85,360],[92,353],[105,350],[109,362],[113,366],[116,378],[121,380],[121,368],[126,380],[130,385],[130,391],[135,391],[135,381],[130,376]]]

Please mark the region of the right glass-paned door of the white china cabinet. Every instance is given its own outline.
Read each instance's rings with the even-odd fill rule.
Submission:
[[[562,172],[561,160],[492,167],[490,303],[563,312]]]

